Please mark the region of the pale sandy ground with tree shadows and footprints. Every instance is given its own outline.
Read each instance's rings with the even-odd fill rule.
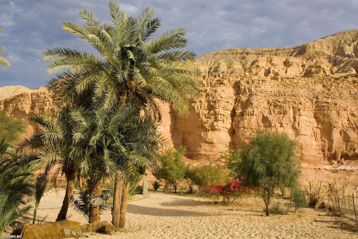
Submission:
[[[45,222],[54,221],[62,205],[64,190],[49,191],[42,198],[38,216],[48,215]],[[137,195],[137,197],[141,197]],[[173,193],[150,192],[150,197],[129,202],[126,226],[121,232],[110,235],[87,233],[89,239],[110,238],[358,238],[330,223],[314,222],[334,220],[313,209],[289,212],[288,215],[263,216],[263,203],[248,197],[229,206],[213,205],[208,199],[180,196]],[[275,199],[287,203],[287,200]],[[87,223],[86,219],[69,209],[69,220]],[[31,216],[31,215],[30,215]],[[111,221],[108,209],[102,220]]]

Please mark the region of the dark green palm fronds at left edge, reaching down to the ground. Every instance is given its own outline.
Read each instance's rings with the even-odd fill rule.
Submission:
[[[0,235],[30,210],[24,198],[32,195],[30,180],[37,169],[29,155],[6,154],[8,147],[0,142]]]

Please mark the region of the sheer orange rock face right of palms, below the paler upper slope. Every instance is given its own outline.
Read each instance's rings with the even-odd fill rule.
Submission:
[[[306,162],[358,159],[358,79],[207,75],[188,118],[164,108],[163,134],[187,157],[212,160],[256,132],[284,132]],[[358,161],[357,161],[358,162]]]

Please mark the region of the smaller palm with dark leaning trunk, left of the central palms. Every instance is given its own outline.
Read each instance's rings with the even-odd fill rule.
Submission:
[[[66,220],[80,163],[79,158],[71,156],[73,147],[72,131],[75,128],[76,121],[72,119],[71,111],[68,107],[47,111],[43,115],[33,115],[29,120],[40,124],[42,127],[38,133],[22,140],[19,143],[19,149],[37,150],[38,161],[46,168],[46,171],[49,171],[55,165],[60,165],[54,178],[61,171],[66,177],[67,185],[62,207],[56,221]]]

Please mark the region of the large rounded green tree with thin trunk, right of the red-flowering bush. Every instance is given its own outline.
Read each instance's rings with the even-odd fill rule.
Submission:
[[[266,205],[266,215],[270,215],[270,200],[280,187],[297,185],[301,175],[296,160],[296,141],[286,134],[258,131],[250,142],[243,145],[240,157],[231,158],[229,168],[236,178],[244,179],[248,185],[257,187]]]

